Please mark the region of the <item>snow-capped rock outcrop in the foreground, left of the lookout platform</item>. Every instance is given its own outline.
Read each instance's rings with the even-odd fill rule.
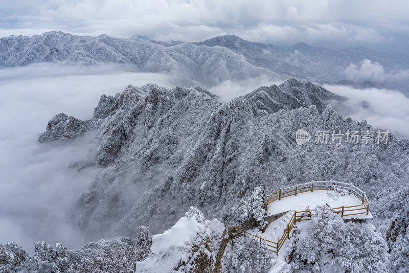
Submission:
[[[206,221],[198,209],[191,207],[170,230],[152,237],[148,257],[137,263],[136,271],[220,272],[228,240],[222,223]]]

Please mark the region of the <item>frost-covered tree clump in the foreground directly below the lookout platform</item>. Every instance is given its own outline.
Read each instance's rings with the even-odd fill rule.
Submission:
[[[306,229],[293,236],[287,253],[300,272],[387,272],[388,247],[370,223],[344,222],[326,206],[317,207]],[[291,249],[291,248],[290,248]]]

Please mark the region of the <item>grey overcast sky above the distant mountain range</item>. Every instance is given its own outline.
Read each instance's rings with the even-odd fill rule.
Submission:
[[[0,36],[58,30],[200,41],[235,34],[275,45],[409,54],[408,10],[406,0],[2,0]]]

